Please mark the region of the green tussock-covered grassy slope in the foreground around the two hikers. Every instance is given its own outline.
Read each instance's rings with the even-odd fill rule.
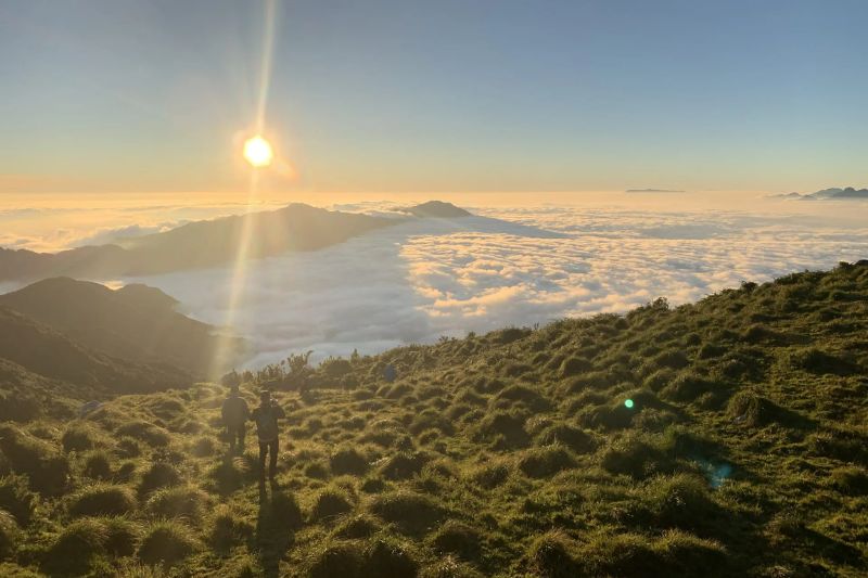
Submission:
[[[261,496],[252,436],[225,457],[217,385],[0,425],[0,473],[39,490],[0,483],[17,512],[0,514],[0,574],[868,571],[868,267],[399,348],[314,381],[278,394],[281,487]]]

